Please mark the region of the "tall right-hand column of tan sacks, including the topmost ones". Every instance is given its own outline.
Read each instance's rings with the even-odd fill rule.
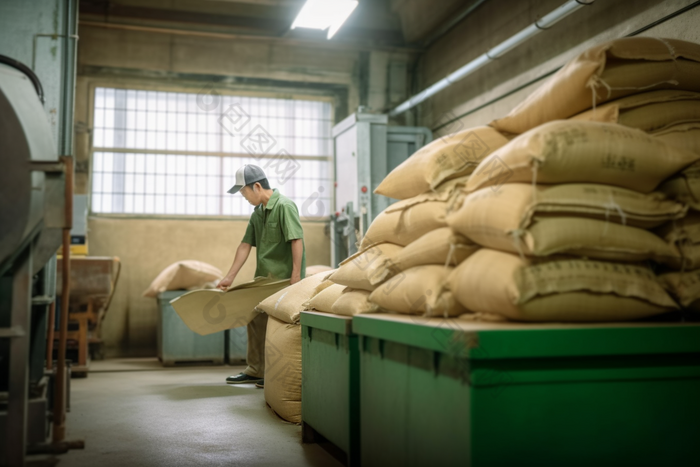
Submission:
[[[484,247],[449,279],[462,305],[522,321],[677,308],[655,270],[700,267],[679,248],[700,235],[674,227],[688,225],[687,200],[666,188],[700,159],[699,91],[700,46],[621,39],[582,53],[492,122],[519,136],[480,164],[448,218]]]

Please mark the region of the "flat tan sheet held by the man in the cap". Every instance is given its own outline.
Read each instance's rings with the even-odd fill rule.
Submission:
[[[255,307],[270,295],[289,286],[289,279],[256,277],[222,291],[193,290],[170,301],[188,328],[206,336],[226,329],[247,325],[255,315]]]

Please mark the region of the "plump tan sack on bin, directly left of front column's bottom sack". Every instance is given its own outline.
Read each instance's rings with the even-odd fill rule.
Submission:
[[[390,313],[459,316],[466,310],[444,288],[453,269],[435,265],[407,269],[380,285],[369,301]]]

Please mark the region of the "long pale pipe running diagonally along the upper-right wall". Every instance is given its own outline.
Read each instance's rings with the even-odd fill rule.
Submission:
[[[456,71],[450,73],[447,75],[445,78],[441,79],[437,83],[433,84],[427,89],[424,89],[423,91],[419,92],[415,96],[410,97],[408,100],[403,102],[402,104],[398,105],[396,108],[391,110],[389,112],[389,116],[395,117],[396,115],[402,114],[405,111],[415,107],[416,105],[420,104],[424,100],[428,99],[429,97],[434,96],[438,92],[442,91],[446,87],[452,85],[453,83],[459,81],[460,79],[474,73],[476,70],[481,68],[482,66],[486,65],[487,63],[497,59],[501,58],[503,55],[507,54],[517,46],[523,44],[524,42],[528,41],[530,38],[536,36],[539,34],[541,31],[545,29],[549,29],[550,27],[554,26],[556,23],[561,21],[562,19],[566,18],[573,12],[579,10],[580,8],[590,5],[594,2],[595,0],[588,0],[588,1],[582,1],[582,0],[569,0],[556,10],[552,11],[551,13],[545,15],[542,19],[535,21],[532,23],[530,26],[526,27],[519,33],[515,34],[514,36],[511,36],[510,38],[506,39],[505,41],[501,42],[497,46],[493,47],[489,51],[487,51],[484,54],[479,55],[477,58],[472,60],[471,62],[467,63],[463,67],[457,69]]]

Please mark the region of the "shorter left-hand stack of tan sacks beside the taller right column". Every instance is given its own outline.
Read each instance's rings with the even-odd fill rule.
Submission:
[[[447,225],[468,176],[508,143],[483,126],[433,141],[392,171],[376,193],[401,201],[369,226],[359,251],[328,280],[307,309],[356,315],[375,311],[456,316],[466,310],[445,288],[447,277],[478,246]]]

